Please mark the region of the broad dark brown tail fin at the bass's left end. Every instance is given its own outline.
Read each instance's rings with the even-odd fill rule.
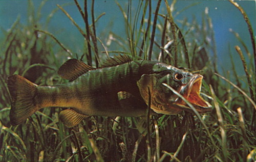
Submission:
[[[34,100],[37,85],[15,74],[7,78],[7,86],[12,98],[10,122],[18,125],[38,110]]]

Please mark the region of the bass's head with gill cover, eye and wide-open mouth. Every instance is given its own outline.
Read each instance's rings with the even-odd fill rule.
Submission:
[[[157,63],[153,72],[143,74],[137,85],[143,100],[147,105],[150,102],[151,109],[156,113],[174,115],[183,110],[193,112],[184,100],[163,84],[179,92],[199,113],[206,113],[211,111],[211,105],[200,96],[202,79],[200,74]]]

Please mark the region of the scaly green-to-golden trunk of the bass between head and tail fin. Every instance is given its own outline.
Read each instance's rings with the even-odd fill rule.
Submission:
[[[37,87],[38,107],[73,107],[76,112],[89,116],[140,116],[131,111],[122,112],[117,93],[126,91],[142,101],[136,86],[141,62],[92,70],[65,85]],[[145,67],[141,70],[144,72]]]

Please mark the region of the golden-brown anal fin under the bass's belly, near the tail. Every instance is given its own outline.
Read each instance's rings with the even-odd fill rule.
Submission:
[[[79,114],[72,109],[66,109],[59,113],[59,119],[69,128],[79,124],[85,117],[88,116]]]

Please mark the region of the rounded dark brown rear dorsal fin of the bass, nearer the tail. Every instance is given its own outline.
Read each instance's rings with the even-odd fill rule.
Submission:
[[[60,66],[58,70],[58,74],[65,79],[68,79],[70,81],[75,80],[82,74],[90,71],[95,70],[95,68],[86,65],[80,60],[77,59],[70,59],[66,61],[63,65]]]

